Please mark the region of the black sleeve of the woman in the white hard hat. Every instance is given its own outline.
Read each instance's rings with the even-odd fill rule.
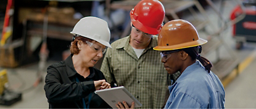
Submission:
[[[80,100],[94,92],[94,81],[60,83],[62,76],[59,71],[52,66],[47,68],[47,75],[44,85],[46,97],[49,102],[59,103],[70,100]]]

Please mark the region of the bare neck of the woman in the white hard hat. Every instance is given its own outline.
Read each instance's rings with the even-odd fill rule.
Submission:
[[[89,76],[89,67],[83,66],[85,64],[83,64],[83,61],[81,61],[81,58],[78,55],[73,55],[72,61],[77,73],[79,73],[81,76],[85,78]]]

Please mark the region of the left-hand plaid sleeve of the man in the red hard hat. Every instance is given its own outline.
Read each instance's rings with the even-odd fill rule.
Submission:
[[[107,48],[107,53],[104,56],[103,62],[101,64],[101,72],[104,74],[107,82],[110,83],[111,87],[114,87],[115,78],[113,74],[113,70],[111,65],[111,57],[112,57],[112,48]]]

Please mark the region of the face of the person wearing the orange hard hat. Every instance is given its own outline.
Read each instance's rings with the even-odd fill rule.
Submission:
[[[161,52],[161,61],[163,62],[163,66],[165,67],[165,70],[167,70],[168,73],[173,74],[180,70],[180,51],[175,52],[169,52],[168,51],[162,51]]]

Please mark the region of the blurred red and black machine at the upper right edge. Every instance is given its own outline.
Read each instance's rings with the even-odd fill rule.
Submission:
[[[236,39],[236,49],[241,49],[244,42],[256,42],[256,0],[244,0],[246,17],[233,26],[233,37]],[[241,6],[236,6],[231,13],[231,20],[241,15]]]

